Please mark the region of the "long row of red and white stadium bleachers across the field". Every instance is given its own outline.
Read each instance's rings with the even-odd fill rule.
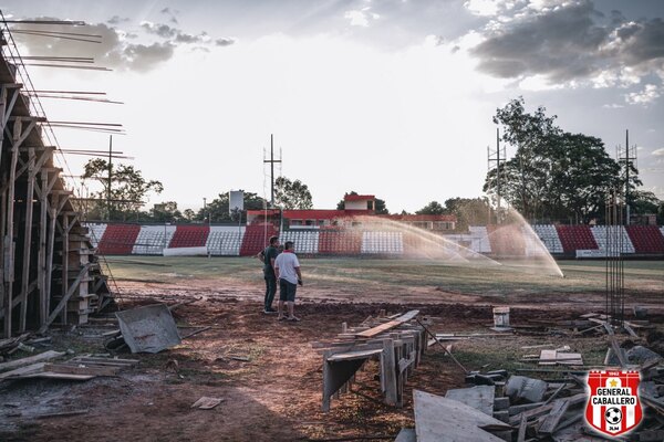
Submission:
[[[279,231],[272,224],[252,225],[137,225],[89,223],[89,235],[102,254],[158,255],[167,248],[206,246],[211,255],[248,256],[261,251]],[[664,254],[664,228],[655,225],[619,227],[623,254]],[[552,225],[469,227],[468,233],[435,234],[406,229],[372,231],[329,228],[291,229],[281,232],[280,241],[293,241],[298,253],[322,255],[445,255],[445,243],[453,242],[474,252],[501,256],[541,254],[540,241],[550,253],[574,253],[579,250],[604,251],[606,227]],[[539,240],[538,240],[539,238]],[[449,250],[447,250],[449,252]],[[452,252],[450,252],[452,253]],[[601,254],[601,253],[600,253]],[[599,255],[598,255],[599,256]]]

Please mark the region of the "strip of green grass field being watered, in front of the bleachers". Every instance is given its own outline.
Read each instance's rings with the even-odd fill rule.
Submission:
[[[111,256],[107,260],[118,281],[262,284],[261,264],[249,257]],[[414,260],[302,259],[301,264],[307,285],[319,288],[434,287],[476,295],[596,293],[605,288],[602,261],[559,262],[564,278],[510,266],[459,266]],[[664,261],[626,261],[624,271],[627,292],[660,294],[664,301]]]

